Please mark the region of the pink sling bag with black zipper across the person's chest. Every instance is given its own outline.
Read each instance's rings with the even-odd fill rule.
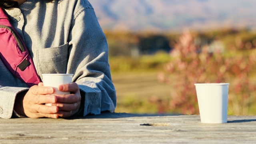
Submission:
[[[0,8],[0,58],[5,66],[29,87],[41,82],[26,45]]]

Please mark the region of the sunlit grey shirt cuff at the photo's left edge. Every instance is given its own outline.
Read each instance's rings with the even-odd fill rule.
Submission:
[[[0,86],[0,118],[11,118],[16,95],[28,88]]]

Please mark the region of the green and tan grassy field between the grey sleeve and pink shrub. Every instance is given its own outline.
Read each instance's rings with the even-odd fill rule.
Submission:
[[[160,82],[158,77],[169,60],[169,54],[164,52],[139,59],[110,58],[116,112],[166,113],[162,106],[170,101],[172,83]]]

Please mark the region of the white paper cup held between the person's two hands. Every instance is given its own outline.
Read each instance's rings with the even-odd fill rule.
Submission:
[[[54,88],[53,94],[70,94],[70,92],[61,92],[58,87],[61,84],[72,83],[74,74],[42,74],[44,86],[51,86]],[[46,103],[46,106],[51,106],[51,103]]]

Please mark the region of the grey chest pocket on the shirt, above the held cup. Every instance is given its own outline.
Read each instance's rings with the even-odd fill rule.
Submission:
[[[52,48],[37,50],[37,72],[42,74],[66,74],[68,64],[68,43]]]

